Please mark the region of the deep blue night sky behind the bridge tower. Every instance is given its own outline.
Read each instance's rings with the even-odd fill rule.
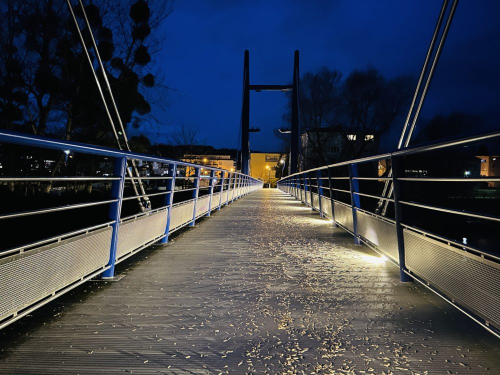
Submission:
[[[416,81],[440,6],[439,0],[177,0],[159,30],[164,41],[156,58],[164,83],[178,93],[164,99],[164,110],[153,109],[166,125],[141,130],[152,142],[167,142],[168,131],[184,122],[199,126],[203,143],[236,147],[244,49],[252,84],[290,83],[295,49],[301,74],[324,65],[346,76],[372,64],[386,77],[411,74]],[[499,11],[500,1],[459,2],[422,120],[454,110],[490,123],[498,118]],[[250,134],[252,149],[279,149],[272,129],[286,126],[285,104],[280,92],[251,93],[250,126],[262,128]]]

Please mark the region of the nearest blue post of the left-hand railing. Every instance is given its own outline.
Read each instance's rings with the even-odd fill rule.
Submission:
[[[113,175],[119,176],[120,179],[113,180],[111,183],[111,198],[118,199],[109,205],[109,218],[114,220],[111,224],[111,246],[109,249],[109,268],[102,272],[101,278],[113,279],[114,276],[114,262],[116,260],[116,245],[118,244],[118,227],[121,214],[121,202],[123,198],[123,188],[125,186],[125,168],[126,156],[116,157],[114,159]]]

